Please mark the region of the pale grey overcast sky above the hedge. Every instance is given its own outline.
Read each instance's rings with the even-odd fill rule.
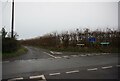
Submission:
[[[11,27],[11,3],[2,4],[2,26]],[[16,2],[15,31],[19,39],[54,31],[118,27],[117,2]]]

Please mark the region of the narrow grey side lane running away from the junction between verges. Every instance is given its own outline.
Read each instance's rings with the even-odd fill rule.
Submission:
[[[29,60],[29,59],[44,59],[44,58],[51,58],[51,56],[44,53],[47,51],[45,49],[38,49],[32,46],[25,46],[28,49],[28,52],[24,55],[19,57],[14,57],[10,59],[5,59],[3,61],[15,61],[15,60]]]

